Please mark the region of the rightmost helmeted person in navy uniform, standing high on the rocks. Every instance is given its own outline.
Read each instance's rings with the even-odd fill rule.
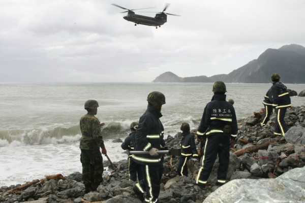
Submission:
[[[273,73],[271,75],[272,86],[271,86],[271,95],[272,95],[272,106],[276,108],[277,118],[275,125],[275,135],[285,136],[287,132],[287,126],[284,121],[285,113],[288,107],[291,106],[291,100],[287,87],[280,82],[280,75]]]

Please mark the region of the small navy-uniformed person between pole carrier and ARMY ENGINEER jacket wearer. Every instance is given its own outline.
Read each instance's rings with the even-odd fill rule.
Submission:
[[[182,138],[180,142],[181,156],[177,166],[177,172],[180,176],[188,177],[187,161],[190,158],[198,160],[198,151],[196,149],[194,136],[190,132],[190,125],[182,123],[180,130],[182,131]]]

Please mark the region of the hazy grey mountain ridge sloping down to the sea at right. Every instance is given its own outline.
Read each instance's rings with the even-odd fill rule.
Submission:
[[[297,44],[284,45],[279,49],[266,49],[255,60],[228,74],[179,77],[165,72],[153,82],[224,82],[269,83],[272,73],[278,73],[285,83],[305,83],[305,47]]]

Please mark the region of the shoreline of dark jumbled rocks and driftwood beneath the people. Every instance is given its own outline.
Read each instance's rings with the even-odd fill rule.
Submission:
[[[271,115],[269,122],[260,127],[260,121],[264,115],[263,110],[255,112],[253,116],[238,121],[238,141],[231,148],[230,165],[227,182],[222,188],[230,187],[238,181],[258,182],[262,180],[283,179],[285,173],[294,168],[305,168],[305,106],[291,107],[287,109],[285,121],[288,132],[285,139],[273,137],[275,115]],[[181,134],[168,135],[167,146],[179,148]],[[198,148],[200,144],[198,143]],[[162,177],[159,200],[161,202],[213,202],[213,194],[219,193],[216,186],[218,161],[214,164],[208,185],[205,189],[194,185],[200,162],[189,162],[189,177],[177,176],[175,169],[178,163],[177,157],[166,156],[164,159],[164,176]],[[128,161],[121,160],[113,163],[116,170],[105,171],[103,185],[95,192],[84,193],[84,185],[81,182],[81,173],[74,172],[67,177],[56,175],[34,180],[24,185],[3,186],[0,188],[0,203],[32,202],[141,202],[132,191],[133,181],[129,181]],[[104,166],[109,166],[104,161]],[[290,174],[289,172],[287,174]],[[298,172],[294,172],[295,173]],[[289,175],[291,176],[291,175]],[[287,179],[289,179],[287,175]],[[259,180],[262,179],[262,180]],[[301,182],[299,195],[291,197],[286,195],[287,202],[291,198],[294,202],[305,202],[305,181]],[[233,181],[234,180],[234,181]],[[247,183],[246,183],[247,184]],[[254,183],[252,183],[254,185]],[[231,186],[232,187],[235,187]],[[277,187],[277,186],[275,186]],[[290,187],[291,188],[291,187]],[[285,190],[285,188],[283,189]],[[283,190],[281,191],[283,193]],[[215,192],[214,192],[215,191]],[[224,193],[223,191],[223,193]],[[259,195],[253,194],[253,195]],[[219,202],[232,202],[232,195],[217,198]],[[280,196],[280,195],[279,195]],[[207,198],[208,197],[208,198]],[[281,197],[286,202],[285,197]],[[255,198],[254,198],[255,199]],[[274,197],[273,197],[274,199]],[[268,201],[267,199],[264,199]],[[253,201],[259,202],[259,201]]]

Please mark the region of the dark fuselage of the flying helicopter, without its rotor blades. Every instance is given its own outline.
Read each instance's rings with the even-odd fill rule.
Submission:
[[[149,17],[144,15],[137,15],[135,13],[128,13],[127,16],[124,16],[123,18],[136,24],[143,24],[148,26],[160,26],[167,22],[166,15],[160,16],[160,14],[157,14],[156,17]]]

